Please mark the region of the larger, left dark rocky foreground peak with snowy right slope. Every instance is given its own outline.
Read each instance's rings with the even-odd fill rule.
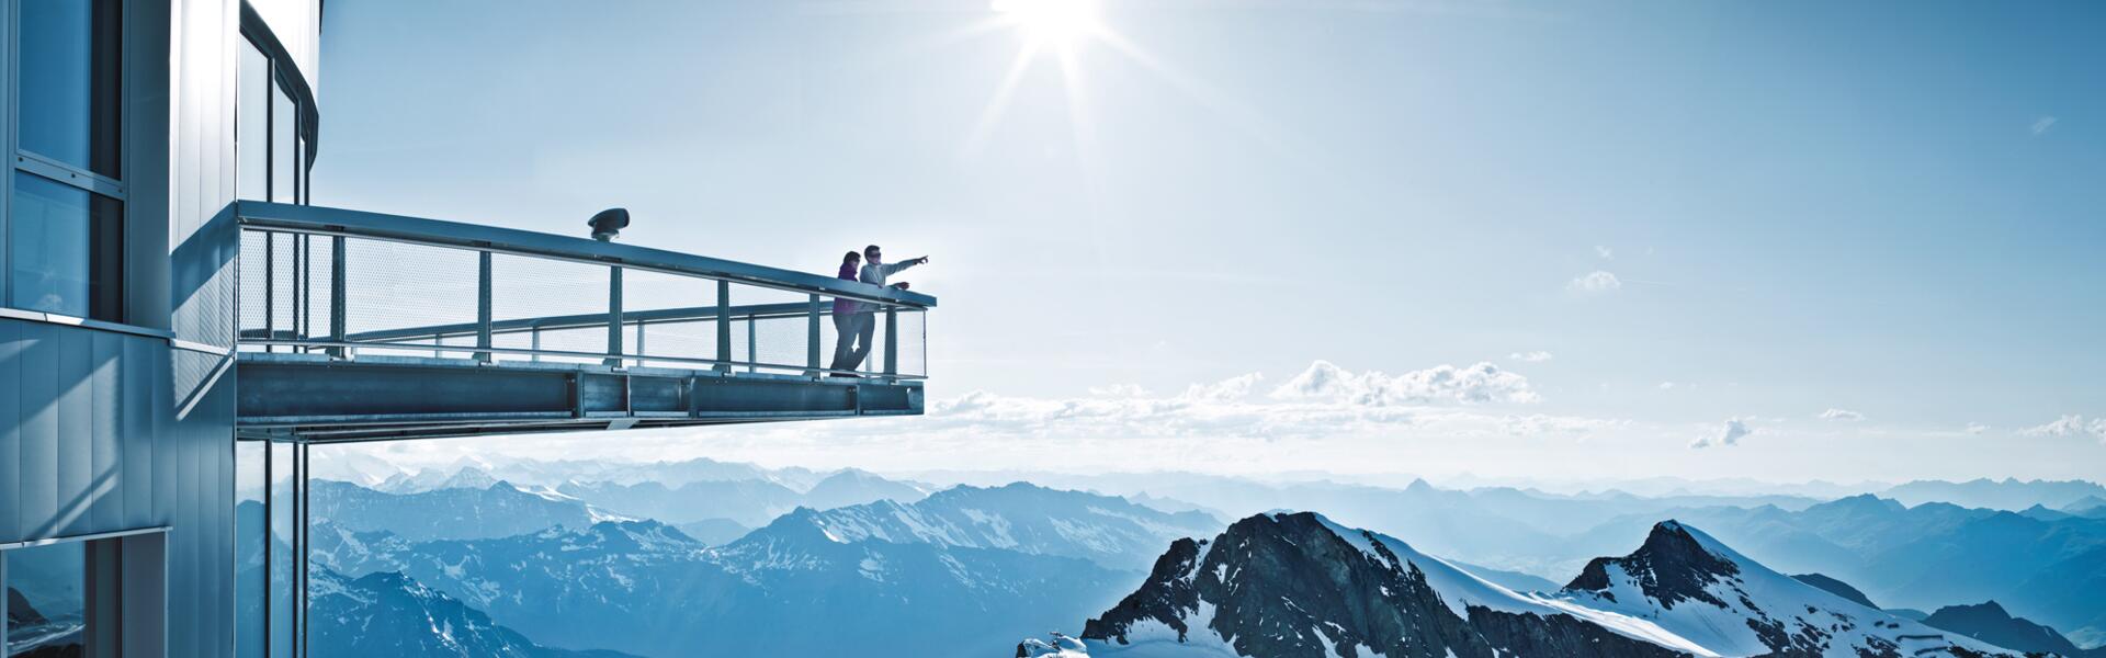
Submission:
[[[1660,626],[1518,595],[1312,512],[1177,540],[1082,628],[1091,656],[1683,656]]]

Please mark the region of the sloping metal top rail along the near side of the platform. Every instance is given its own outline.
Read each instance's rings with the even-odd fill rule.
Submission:
[[[678,253],[665,249],[600,243],[531,230],[497,228],[482,224],[383,215],[350,209],[303,207],[263,200],[234,202],[236,217],[249,228],[284,232],[356,236],[415,245],[459,247],[529,257],[567,259],[598,266],[623,266],[634,270],[655,270],[678,276],[733,280],[743,285],[847,297],[857,302],[935,308],[933,295],[870,285],[861,280],[834,278],[811,272],[781,270],[729,262],[708,255]]]

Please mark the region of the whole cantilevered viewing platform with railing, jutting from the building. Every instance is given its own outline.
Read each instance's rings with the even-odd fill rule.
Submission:
[[[236,428],[337,443],[922,413],[935,297],[691,253],[242,200]],[[832,251],[830,251],[832,253]],[[834,299],[878,327],[828,369]]]

